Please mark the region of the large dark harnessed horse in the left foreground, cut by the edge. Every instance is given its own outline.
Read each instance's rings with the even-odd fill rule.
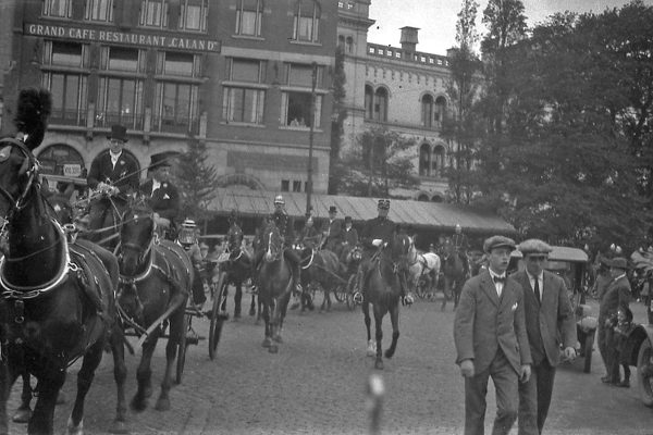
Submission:
[[[84,400],[107,344],[119,390],[124,384],[122,335],[113,293],[118,262],[91,244],[69,244],[38,184],[38,163],[22,142],[0,142],[0,213],[7,237],[0,263],[2,363],[0,433],[8,433],[7,400],[25,371],[37,378],[38,399],[27,432],[51,434],[57,396],[66,368],[83,359],[69,433],[82,433]],[[116,409],[122,430],[125,409]]]

